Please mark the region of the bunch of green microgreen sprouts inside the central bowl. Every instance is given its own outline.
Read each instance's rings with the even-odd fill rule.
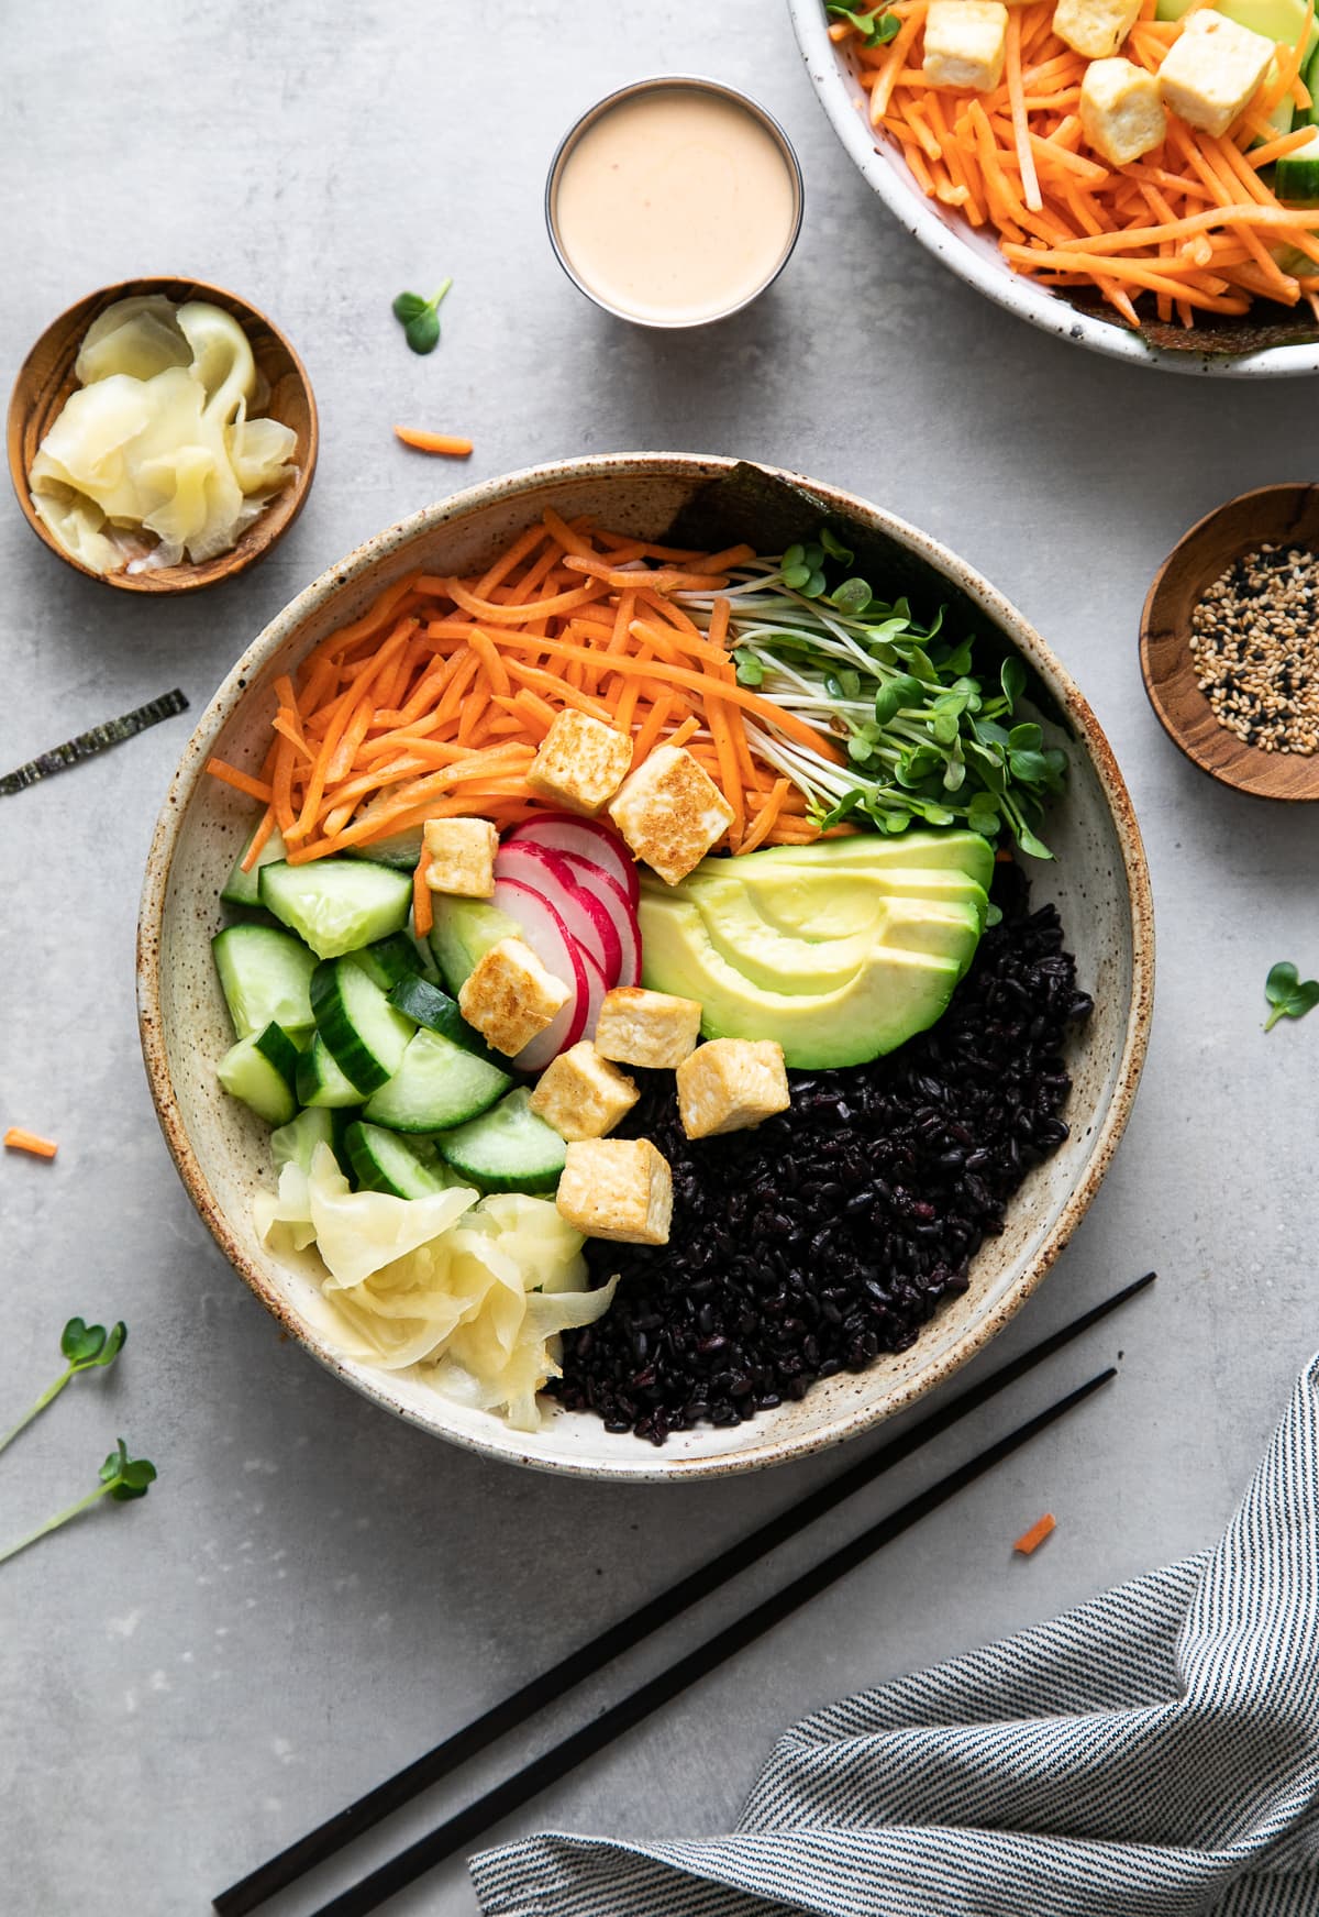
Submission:
[[[1008,656],[997,681],[976,677],[970,636],[945,636],[941,612],[920,625],[907,598],[878,598],[853,564],[824,527],[782,558],[748,566],[721,594],[738,684],[821,734],[815,751],[757,715],[746,721],[748,742],[807,796],[824,828],[851,817],[880,832],[913,820],[962,824],[1049,859],[1035,824],[1068,761],[1018,711],[1026,667]],[[709,621],[713,594],[677,598]]]

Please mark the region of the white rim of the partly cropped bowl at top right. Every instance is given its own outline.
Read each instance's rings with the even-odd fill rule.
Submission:
[[[1077,312],[1056,293],[1043,286],[1031,286],[1016,272],[1005,270],[1003,263],[985,247],[974,245],[968,238],[947,226],[914,180],[907,174],[901,155],[876,150],[876,138],[855,105],[855,86],[847,82],[838,48],[828,36],[828,15],[824,0],[788,0],[792,27],[801,48],[805,69],[811,75],[821,105],[830,125],[867,182],[880,196],[899,226],[920,242],[936,259],[941,259],[959,280],[966,280],[978,293],[993,299],[997,307],[1007,307],[1020,318],[1039,326],[1045,334],[1074,341],[1102,353],[1108,358],[1123,360],[1127,366],[1152,366],[1160,372],[1210,374],[1219,380],[1267,380],[1292,374],[1319,372],[1319,345],[1263,347],[1260,353],[1179,353],[1164,347],[1150,347],[1125,326],[1110,324],[1089,312]]]

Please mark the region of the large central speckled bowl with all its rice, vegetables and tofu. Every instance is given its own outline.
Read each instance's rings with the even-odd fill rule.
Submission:
[[[307,589],[194,734],[144,1052],[322,1363],[587,1476],[911,1403],[1079,1221],[1145,1054],[1102,732],[970,567],[734,460],[491,481]]]

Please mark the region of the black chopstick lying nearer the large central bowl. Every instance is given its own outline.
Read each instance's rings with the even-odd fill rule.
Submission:
[[[978,1384],[972,1384],[966,1392],[960,1392],[945,1405],[939,1405],[916,1424],[899,1432],[897,1438],[880,1445],[868,1457],[859,1459],[847,1470],[838,1472],[838,1476],[828,1484],[821,1486],[817,1491],[809,1491],[805,1497],[798,1499],[796,1505],[790,1505],[788,1511],[782,1511],[767,1524],[761,1524],[757,1530],[738,1539],[738,1543],[729,1545],[727,1551],[721,1551],[707,1564],[702,1564],[686,1578],[681,1578],[665,1591],[648,1599],[627,1618],[608,1626],[608,1629],[600,1631],[589,1643],[571,1651],[566,1658],[560,1658],[560,1662],[550,1666],[550,1670],[541,1672],[539,1677],[531,1677],[510,1697],[493,1704],[472,1723],[464,1725],[464,1729],[454,1731],[452,1737],[447,1737],[385,1783],[376,1785],[374,1790],[357,1798],[357,1802],[349,1804],[347,1810],[328,1817],[314,1831],[309,1831],[247,1877],[230,1884],[228,1890],[222,1890],[215,1898],[213,1907],[220,1911],[222,1917],[245,1917],[247,1911],[257,1909],[266,1902],[266,1898],[272,1898],[278,1890],[286,1890],[307,1871],[326,1863],[339,1850],[343,1850],[345,1844],[351,1844],[383,1817],[412,1802],[412,1798],[420,1796],[422,1790],[428,1790],[443,1777],[449,1777],[451,1771],[454,1771],[460,1764],[466,1764],[477,1752],[485,1750],[498,1737],[520,1729],[537,1710],[543,1710],[546,1704],[564,1697],[564,1693],[573,1685],[583,1683],[583,1679],[594,1675],[594,1672],[602,1670],[615,1656],[621,1656],[625,1651],[642,1643],[642,1639],[650,1637],[652,1631],[660,1629],[660,1626],[667,1624],[671,1618],[681,1616],[700,1599],[721,1589],[721,1585],[729,1583],[730,1578],[736,1578],[738,1572],[748,1570],[767,1551],[773,1551],[776,1545],[796,1537],[796,1534],[815,1518],[832,1511],[845,1497],[851,1497],[867,1484],[872,1484],[874,1478],[891,1470],[903,1459],[911,1457],[911,1453],[920,1445],[930,1444],[932,1438],[941,1436],[972,1411],[978,1411],[980,1405],[1007,1390],[1007,1386],[1016,1384],[1016,1380],[1033,1371],[1035,1365],[1041,1365],[1047,1357],[1053,1357],[1054,1351],[1072,1344],[1072,1340],[1079,1338],[1081,1332],[1091,1328],[1091,1325],[1108,1317],[1110,1311],[1127,1304],[1152,1282],[1154,1273],[1146,1271],[1143,1279],[1137,1279],[1133,1284],[1125,1284],[1120,1292],[1114,1292],[1112,1298],[1104,1298],[1102,1304],[1083,1311],[1049,1338],[1041,1338],[1039,1344],[1022,1351],[1020,1357],[1014,1357],[1010,1363],[991,1371]]]

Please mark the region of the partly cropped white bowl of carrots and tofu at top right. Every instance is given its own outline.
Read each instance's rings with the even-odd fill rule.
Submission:
[[[997,44],[955,84],[930,4],[788,0],[834,130],[907,232],[997,305],[1112,358],[1227,378],[1319,370],[1307,0],[976,8],[995,15]],[[1085,15],[1079,31],[1070,13]],[[1244,56],[1240,96],[1229,86],[1215,102],[1225,127],[1175,77],[1206,15]],[[1097,21],[1110,29],[1102,46]],[[1141,100],[1135,153],[1104,138],[1104,86]]]

